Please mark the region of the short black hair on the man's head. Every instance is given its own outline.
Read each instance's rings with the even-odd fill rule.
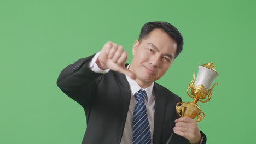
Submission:
[[[181,53],[183,49],[183,37],[181,33],[178,31],[176,27],[171,25],[168,22],[162,21],[155,21],[155,22],[148,22],[141,28],[141,33],[139,34],[139,41],[146,38],[150,32],[154,29],[159,28],[166,32],[173,40],[177,43],[177,50],[175,53],[175,58]]]

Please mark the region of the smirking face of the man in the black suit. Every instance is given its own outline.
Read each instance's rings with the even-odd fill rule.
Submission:
[[[137,76],[135,81],[142,87],[148,87],[160,79],[171,66],[176,50],[176,41],[161,29],[154,29],[140,42],[136,40],[129,68]]]

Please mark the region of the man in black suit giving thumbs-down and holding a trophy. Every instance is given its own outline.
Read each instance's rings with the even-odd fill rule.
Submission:
[[[179,118],[177,95],[155,81],[182,51],[183,37],[167,22],[148,22],[132,47],[107,42],[96,55],[62,70],[57,85],[83,106],[82,143],[206,143],[189,117]]]

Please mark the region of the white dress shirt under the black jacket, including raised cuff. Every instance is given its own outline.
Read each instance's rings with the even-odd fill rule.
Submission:
[[[102,74],[107,73],[110,69],[102,70],[95,63],[99,55],[100,55],[100,52],[96,53],[94,58],[92,58],[92,61],[90,62],[89,67],[92,71],[94,71],[96,73],[102,73]],[[128,65],[127,68],[129,68],[129,67],[130,67],[130,65]],[[155,114],[155,95],[153,93],[154,82],[148,88],[143,89],[138,85],[138,83],[135,80],[131,79],[127,75],[125,75],[125,76],[130,85],[131,101],[130,101],[129,110],[127,113],[127,118],[126,118],[126,122],[125,122],[123,136],[121,139],[121,144],[132,143],[132,119],[133,119],[133,111],[134,111],[135,105],[137,103],[137,100],[136,100],[134,94],[137,93],[141,89],[146,91],[146,93],[147,93],[147,97],[145,98],[145,104],[146,104],[146,109],[147,109],[147,113],[148,113],[149,127],[150,127],[150,131],[151,131],[151,140],[153,141],[154,114]],[[152,141],[151,141],[151,143],[152,143]]]

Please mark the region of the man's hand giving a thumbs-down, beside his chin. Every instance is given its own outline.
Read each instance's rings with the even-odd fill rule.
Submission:
[[[102,70],[111,69],[123,73],[132,79],[136,79],[136,75],[129,69],[126,69],[125,62],[127,60],[127,52],[123,46],[108,41],[102,48],[100,56],[96,61],[98,67]]]

